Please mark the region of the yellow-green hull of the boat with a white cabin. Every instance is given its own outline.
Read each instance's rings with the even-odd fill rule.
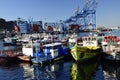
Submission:
[[[99,52],[98,52],[99,51]],[[100,54],[100,48],[89,49],[87,47],[74,46],[71,48],[71,55],[75,61],[81,62],[89,59],[93,59]]]

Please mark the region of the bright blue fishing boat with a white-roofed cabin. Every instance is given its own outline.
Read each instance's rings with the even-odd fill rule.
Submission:
[[[69,47],[63,47],[61,42],[55,42],[43,45],[43,52],[37,53],[34,60],[32,60],[33,63],[52,63],[67,57],[69,55]]]

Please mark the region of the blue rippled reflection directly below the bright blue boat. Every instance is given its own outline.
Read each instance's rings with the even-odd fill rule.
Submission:
[[[35,75],[34,79],[36,80],[56,79],[54,70],[57,70],[57,65],[52,65],[52,66],[33,65],[33,68],[34,68],[33,72]]]

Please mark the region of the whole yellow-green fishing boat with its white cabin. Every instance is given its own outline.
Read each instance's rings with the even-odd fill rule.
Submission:
[[[98,45],[97,36],[83,36],[77,39],[71,48],[71,55],[76,62],[81,62],[97,57],[101,48]]]

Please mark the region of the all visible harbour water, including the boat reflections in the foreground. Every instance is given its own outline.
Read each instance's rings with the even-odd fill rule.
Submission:
[[[113,33],[120,36],[120,31]],[[3,47],[2,41],[0,45],[0,50],[16,48]],[[61,60],[48,65],[20,62],[0,65],[0,80],[120,80],[120,66],[101,59],[79,65],[74,60]]]

